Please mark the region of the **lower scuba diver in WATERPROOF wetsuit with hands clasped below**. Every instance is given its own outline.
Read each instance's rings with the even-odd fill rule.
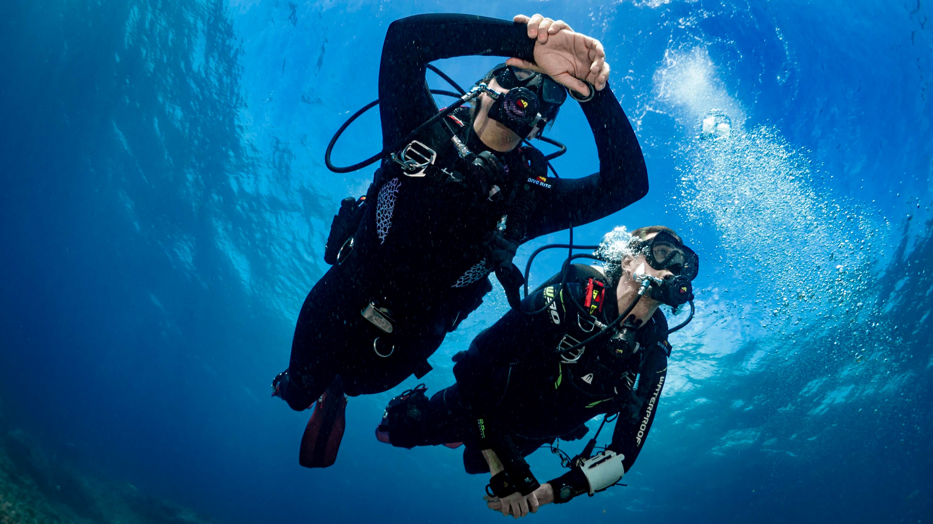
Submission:
[[[692,300],[699,259],[661,226],[617,229],[596,255],[605,269],[565,264],[565,276],[522,301],[539,313],[509,310],[454,355],[456,384],[430,399],[423,386],[392,399],[377,437],[403,448],[465,442],[466,472],[491,472],[487,504],[514,517],[620,481],[657,413],[667,336],[686,325],[668,330],[658,306]],[[539,484],[523,457],[581,438],[599,414],[604,423],[618,414],[611,444],[592,455],[594,436],[576,458],[564,456],[569,472]]]

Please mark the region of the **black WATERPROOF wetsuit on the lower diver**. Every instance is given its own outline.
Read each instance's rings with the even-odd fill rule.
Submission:
[[[590,278],[604,279],[590,267],[571,266],[568,289],[581,304]],[[560,279],[555,276],[525,298],[522,306],[540,309],[559,288]],[[578,324],[578,310],[566,296],[554,305],[554,314],[508,311],[480,333],[454,365],[456,384],[429,401],[424,395],[420,402],[412,396],[390,407],[383,431],[392,444],[411,448],[465,442],[467,473],[488,472],[480,448],[492,448],[508,470],[509,462],[556,438],[580,438],[586,433],[581,426],[593,417],[619,413],[608,448],[625,456],[622,464],[629,471],[654,421],[667,375],[671,349],[667,321],[661,310],[656,311],[636,332],[637,350],[622,357],[606,351],[609,342],[604,336],[587,344],[577,363],[568,364],[556,352],[558,343],[564,336],[582,340],[589,335]],[[615,293],[606,289],[604,307],[597,316],[607,323],[618,315]],[[476,431],[479,418],[487,433],[484,442]],[[574,475],[578,472],[562,478]],[[577,486],[576,495],[586,481],[574,480],[569,484]]]

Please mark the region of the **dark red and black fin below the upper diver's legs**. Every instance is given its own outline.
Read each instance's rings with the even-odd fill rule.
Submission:
[[[346,427],[347,398],[340,377],[327,388],[314,405],[314,412],[301,436],[298,462],[307,468],[326,468],[337,461]]]

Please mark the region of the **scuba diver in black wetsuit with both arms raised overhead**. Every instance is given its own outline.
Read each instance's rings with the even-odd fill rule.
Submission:
[[[512,58],[458,101],[472,100],[470,110],[439,114],[425,68],[466,55]],[[540,15],[419,15],[389,26],[379,76],[385,156],[366,197],[341,202],[325,256],[334,265],[301,307],[288,368],[272,384],[294,409],[320,400],[302,465],[336,459],[345,395],[381,393],[431,369],[427,358],[480,306],[492,272],[518,305],[519,244],[645,196],[645,161],[608,71],[598,41]],[[548,177],[547,159],[519,146],[554,120],[565,87],[600,160],[599,172],[576,179]]]

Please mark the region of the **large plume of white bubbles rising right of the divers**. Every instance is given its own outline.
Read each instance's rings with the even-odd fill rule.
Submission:
[[[717,237],[717,282],[734,280],[743,317],[795,329],[852,321],[866,307],[888,224],[833,197],[812,154],[747,114],[703,47],[669,49],[656,100],[688,131],[678,159],[679,206],[692,228]],[[738,304],[737,304],[738,305]]]

